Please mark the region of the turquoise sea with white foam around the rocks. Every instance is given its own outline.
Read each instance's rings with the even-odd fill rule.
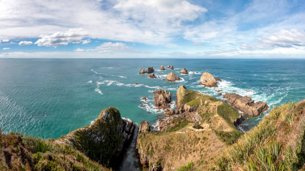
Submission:
[[[163,81],[173,65],[183,80]],[[157,79],[139,75],[153,66]],[[180,75],[181,68],[191,74]],[[195,74],[199,72],[200,74]],[[218,87],[198,84],[202,72],[223,80]],[[139,85],[134,85],[134,83]],[[175,94],[180,85],[213,95],[236,92],[270,107],[305,98],[305,60],[257,59],[1,59],[0,127],[41,138],[58,138],[91,123],[106,107],[117,107],[122,117],[151,124],[161,111],[153,107],[152,91],[163,88]],[[148,97],[149,102],[141,101]],[[175,100],[175,96],[173,95]],[[149,107],[142,107],[147,104]],[[242,126],[255,126],[250,118]]]

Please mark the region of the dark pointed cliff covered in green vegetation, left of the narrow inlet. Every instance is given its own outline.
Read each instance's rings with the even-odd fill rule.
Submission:
[[[104,109],[92,124],[57,140],[71,145],[105,166],[118,162],[134,132],[135,124],[121,118],[117,108]]]

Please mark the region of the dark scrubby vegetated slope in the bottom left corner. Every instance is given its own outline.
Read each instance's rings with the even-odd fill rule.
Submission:
[[[69,145],[0,133],[0,171],[111,171]]]

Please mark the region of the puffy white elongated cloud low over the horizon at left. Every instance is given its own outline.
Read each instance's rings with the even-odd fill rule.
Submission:
[[[82,39],[88,35],[88,32],[84,31],[82,28],[73,28],[66,32],[56,32],[51,35],[42,34],[35,44],[38,46],[56,47],[67,45],[68,43],[80,43]]]

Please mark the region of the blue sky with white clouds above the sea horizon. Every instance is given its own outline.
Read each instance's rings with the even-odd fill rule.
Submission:
[[[305,2],[0,0],[0,58],[305,58]]]

